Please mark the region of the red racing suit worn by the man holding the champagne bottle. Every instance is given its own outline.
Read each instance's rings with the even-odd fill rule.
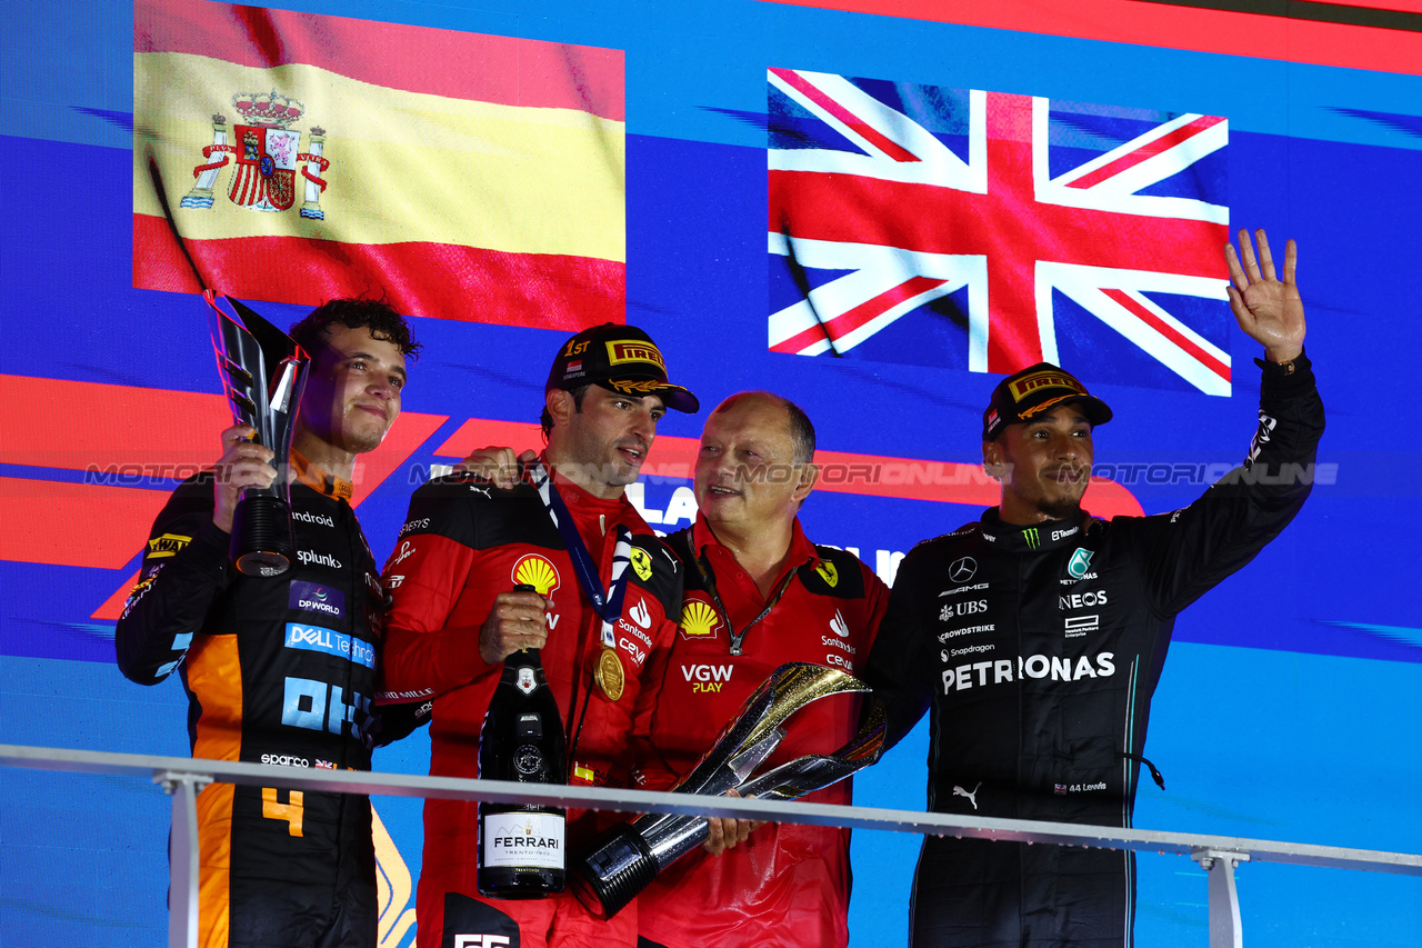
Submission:
[[[429,773],[479,774],[479,732],[503,669],[479,656],[479,628],[493,599],[529,584],[547,598],[543,669],[567,727],[570,783],[629,786],[631,734],[644,726],[675,635],[681,565],[626,500],[602,500],[556,480],[603,585],[611,575],[617,525],[631,530],[631,565],[616,648],[604,656],[602,619],[579,586],[557,528],[528,483],[499,490],[468,475],[434,480],[410,501],[410,517],[385,564],[391,589],[381,700],[434,697]],[[604,689],[600,665],[621,670]],[[569,813],[567,850],[626,817]],[[417,912],[421,948],[452,944],[631,945],[637,912],[593,918],[572,891],[543,900],[485,900],[478,892],[478,806],[425,801],[425,851]],[[509,941],[498,941],[508,938]]]

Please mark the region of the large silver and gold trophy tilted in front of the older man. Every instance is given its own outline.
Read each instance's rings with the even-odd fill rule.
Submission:
[[[859,733],[835,753],[799,757],[755,779],[751,774],[785,737],[781,725],[791,715],[820,697],[867,690],[853,675],[820,665],[779,666],[673,793],[718,796],[737,790],[742,797],[795,800],[843,780],[883,753],[884,713],[877,697],[870,699]],[[646,813],[594,838],[573,860],[569,881],[590,912],[611,918],[658,873],[705,838],[705,817]]]

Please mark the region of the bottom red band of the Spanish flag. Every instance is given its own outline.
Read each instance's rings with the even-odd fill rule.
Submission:
[[[218,292],[246,300],[319,306],[337,296],[384,292],[407,316],[560,332],[627,322],[627,266],[619,260],[294,236],[186,241],[185,246],[203,275],[222,275]],[[431,272],[449,278],[432,280]],[[384,273],[388,282],[373,286],[370,273]],[[418,275],[418,286],[405,275]],[[134,215],[134,285],[202,292],[162,218]]]

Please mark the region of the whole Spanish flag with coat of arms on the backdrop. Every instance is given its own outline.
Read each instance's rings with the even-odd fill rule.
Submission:
[[[626,319],[623,53],[137,0],[134,285]]]

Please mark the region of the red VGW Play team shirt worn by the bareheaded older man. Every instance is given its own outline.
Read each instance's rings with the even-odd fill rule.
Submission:
[[[889,601],[872,569],[853,554],[809,542],[798,520],[785,571],[769,596],[761,595],[704,518],[668,537],[667,545],[684,564],[687,589],[650,746],[638,752],[637,783],[646,790],[670,790],[685,776],[745,699],[785,662],[857,675]],[[855,736],[857,719],[859,699],[850,695],[799,710],[785,723],[785,742],[758,771],[833,753]],[[848,804],[850,781],[803,800]],[[661,873],[638,897],[641,944],[843,947],[849,880],[849,830],[768,823],[734,850],[708,855],[698,847]]]

